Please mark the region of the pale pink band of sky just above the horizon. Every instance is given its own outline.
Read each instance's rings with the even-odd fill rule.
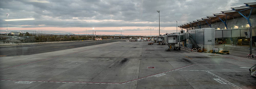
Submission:
[[[94,27],[94,31],[96,31],[97,35],[114,35],[114,34],[122,34],[123,35],[158,35],[159,27],[136,27],[136,26],[125,26],[125,27]],[[0,27],[1,33],[5,33],[6,27]],[[25,30],[25,31],[36,31],[38,30],[40,33],[74,33],[74,34],[92,34],[93,27],[27,27],[27,28],[8,28],[8,31],[12,30]],[[100,30],[100,31],[98,31]],[[178,27],[178,31],[181,29]],[[160,33],[174,33],[176,32],[176,27],[160,27]],[[94,32],[95,33],[95,32]]]

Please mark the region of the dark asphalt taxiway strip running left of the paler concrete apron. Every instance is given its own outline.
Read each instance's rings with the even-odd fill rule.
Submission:
[[[66,50],[70,48],[78,48],[84,46],[92,46],[103,43],[117,42],[120,40],[102,40],[102,41],[76,41],[76,42],[42,42],[42,43],[23,43],[25,45],[8,45],[0,46],[0,56],[20,56],[39,54],[44,52],[52,52]]]

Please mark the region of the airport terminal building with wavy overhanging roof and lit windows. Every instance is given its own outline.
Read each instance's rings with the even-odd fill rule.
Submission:
[[[181,30],[214,28],[215,44],[249,46],[250,37],[245,33],[252,27],[252,46],[256,44],[256,2],[245,3],[245,6],[214,13],[212,16],[197,19],[178,26]],[[249,33],[249,32],[248,32]]]

